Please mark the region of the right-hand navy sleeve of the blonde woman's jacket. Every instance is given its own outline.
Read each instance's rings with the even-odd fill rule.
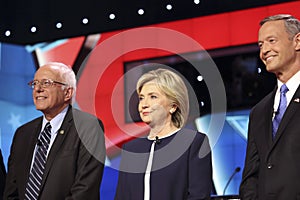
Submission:
[[[212,190],[211,149],[206,135],[197,133],[189,155],[187,200],[210,199]]]

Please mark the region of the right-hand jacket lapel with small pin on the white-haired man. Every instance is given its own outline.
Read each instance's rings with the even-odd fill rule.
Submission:
[[[43,186],[45,184],[45,181],[46,181],[46,179],[48,177],[49,170],[51,169],[53,161],[57,157],[57,154],[59,153],[59,150],[61,149],[63,141],[67,137],[69,129],[70,129],[71,125],[72,125],[72,119],[73,119],[72,107],[69,106],[68,112],[67,112],[67,114],[66,114],[66,116],[64,118],[64,121],[63,121],[60,129],[57,132],[55,141],[54,141],[54,143],[53,143],[53,145],[51,147],[51,150],[50,150],[48,158],[47,158],[45,172],[44,172],[44,177],[45,178],[43,178],[43,182],[42,182],[42,186],[41,186],[42,188],[43,188]]]

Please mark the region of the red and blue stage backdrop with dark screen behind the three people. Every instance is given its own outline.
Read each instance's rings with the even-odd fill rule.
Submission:
[[[207,133],[212,116],[220,113],[211,113],[207,77],[197,74],[191,63],[182,58],[203,64],[207,59],[203,52],[208,52],[220,73],[227,99],[224,127],[212,145],[213,192],[222,195],[230,176],[237,168],[243,168],[249,109],[275,84],[258,58],[258,23],[265,16],[278,13],[300,18],[299,9],[300,2],[295,1],[32,46],[1,43],[0,145],[5,164],[16,128],[41,115],[35,110],[27,83],[39,65],[64,62],[77,74],[75,106],[104,122],[108,155],[101,197],[113,199],[120,146],[144,136],[148,130],[140,122],[136,102],[132,101],[140,74],[126,75],[134,68],[147,70],[149,63],[167,65],[180,72],[197,97],[194,108],[200,110],[187,126]],[[187,45],[185,41],[197,45]],[[237,172],[225,193],[237,194],[240,180],[241,172]]]

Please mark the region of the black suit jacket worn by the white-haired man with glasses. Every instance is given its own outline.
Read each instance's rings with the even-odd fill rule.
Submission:
[[[42,117],[39,117],[16,130],[4,199],[24,199],[41,126]],[[101,121],[70,106],[49,152],[39,199],[100,199],[104,159]]]

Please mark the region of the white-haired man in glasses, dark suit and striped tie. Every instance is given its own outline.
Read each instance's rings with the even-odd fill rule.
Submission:
[[[103,125],[95,116],[72,108],[74,72],[62,63],[48,63],[29,85],[43,116],[16,130],[4,199],[100,199]]]

